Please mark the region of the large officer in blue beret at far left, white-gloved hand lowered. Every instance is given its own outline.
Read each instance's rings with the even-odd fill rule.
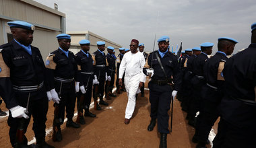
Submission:
[[[0,46],[0,96],[9,109],[7,122],[11,145],[32,147],[28,146],[24,135],[32,115],[36,137],[34,147],[52,147],[45,143],[48,111],[46,69],[40,50],[31,45],[34,26],[22,21],[7,24],[14,39]]]

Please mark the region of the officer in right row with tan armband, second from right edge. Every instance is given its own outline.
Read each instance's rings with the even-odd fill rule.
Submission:
[[[217,107],[224,93],[224,79],[221,76],[224,63],[228,60],[227,55],[232,54],[234,45],[238,43],[233,38],[218,38],[218,52],[205,63],[203,73],[206,84],[201,89],[201,98],[203,102],[200,110],[199,122],[199,143],[197,148],[206,148],[209,133],[220,114]]]

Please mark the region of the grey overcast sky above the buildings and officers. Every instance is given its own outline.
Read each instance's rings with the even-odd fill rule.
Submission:
[[[170,36],[170,46],[185,48],[228,36],[238,40],[236,50],[251,42],[256,22],[255,0],[35,0],[66,14],[67,31],[89,30],[125,48],[132,38],[152,51],[154,34]],[[155,50],[158,50],[156,44]]]

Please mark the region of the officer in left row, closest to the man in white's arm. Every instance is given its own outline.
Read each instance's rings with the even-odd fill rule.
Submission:
[[[119,48],[119,55],[117,56],[117,77],[119,77],[119,67],[120,67],[120,64],[121,64],[121,61],[123,59],[123,55],[125,54],[125,48]],[[124,82],[125,81],[125,75],[123,75],[123,79],[122,79]],[[124,84],[123,84],[124,86]],[[116,87],[117,87],[117,94],[121,94],[121,87],[119,85],[119,79],[116,80]]]

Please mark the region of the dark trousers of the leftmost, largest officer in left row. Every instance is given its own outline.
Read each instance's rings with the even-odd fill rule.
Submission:
[[[45,92],[46,93],[46,92]],[[28,101],[28,93],[15,94],[15,98],[18,100],[20,106],[26,108]],[[34,100],[33,96],[30,96],[30,103],[28,106],[28,116],[33,116],[33,131],[36,137],[36,141],[44,141],[45,138],[45,122],[47,120],[46,114],[48,111],[48,100],[47,98],[42,98],[39,100]],[[11,145],[14,146],[16,143],[16,133],[20,127],[21,122],[24,122],[24,133],[26,133],[28,124],[30,123],[30,118],[12,118],[11,112],[9,111],[9,117],[7,123],[9,125],[9,139]],[[24,137],[24,145],[27,144],[27,139]]]

